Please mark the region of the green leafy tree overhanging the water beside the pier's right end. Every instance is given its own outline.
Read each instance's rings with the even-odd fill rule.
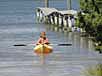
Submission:
[[[78,14],[82,28],[102,44],[102,0],[80,0],[80,9],[85,13]]]

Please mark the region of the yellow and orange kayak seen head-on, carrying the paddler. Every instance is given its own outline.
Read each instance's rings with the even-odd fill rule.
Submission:
[[[40,44],[40,45],[35,46],[35,48],[34,48],[34,52],[36,54],[49,54],[52,52],[52,50],[53,50],[53,48],[46,44],[44,44],[44,45]]]

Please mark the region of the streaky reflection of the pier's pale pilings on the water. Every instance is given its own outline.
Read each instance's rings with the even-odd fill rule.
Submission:
[[[63,33],[68,42],[71,42],[75,48],[87,49],[90,51],[94,50],[92,40],[88,39],[87,37],[81,37],[80,32],[68,32],[67,30],[63,30],[62,28],[48,24],[46,25],[46,28],[50,31]]]

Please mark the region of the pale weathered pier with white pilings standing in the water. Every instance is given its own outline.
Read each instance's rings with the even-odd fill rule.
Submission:
[[[59,11],[55,8],[37,7],[36,19],[37,23],[47,23],[56,25],[63,30],[72,30],[75,26],[76,10]]]

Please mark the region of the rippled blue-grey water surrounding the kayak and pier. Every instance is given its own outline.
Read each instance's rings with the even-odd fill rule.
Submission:
[[[73,0],[73,9],[78,9]],[[45,24],[36,24],[35,8],[44,6],[43,0],[0,0],[0,76],[81,76],[90,65],[102,62],[102,55],[94,51],[92,41],[79,33],[66,33]],[[51,0],[50,7],[67,9],[66,0]],[[33,53],[41,31],[46,31],[51,43],[72,43],[72,46],[53,46],[46,64]],[[28,46],[15,47],[14,44]]]

